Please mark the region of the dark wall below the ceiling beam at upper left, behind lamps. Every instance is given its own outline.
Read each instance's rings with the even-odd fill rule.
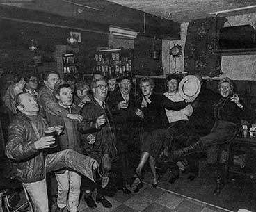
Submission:
[[[33,67],[33,57],[42,56],[43,63],[54,62],[55,45],[67,45],[72,29],[26,24],[0,19],[0,68],[18,72]],[[79,31],[78,31],[79,32]],[[79,47],[79,71],[92,67],[96,47],[108,45],[108,35],[80,32],[82,42]],[[39,51],[29,50],[31,40],[38,44]]]

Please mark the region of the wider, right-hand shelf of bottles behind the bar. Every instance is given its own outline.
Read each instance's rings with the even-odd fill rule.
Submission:
[[[93,72],[102,72],[104,76],[115,74],[117,77],[132,77],[132,61],[133,49],[100,50],[95,53]]]

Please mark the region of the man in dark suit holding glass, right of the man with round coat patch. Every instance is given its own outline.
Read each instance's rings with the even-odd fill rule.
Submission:
[[[136,151],[136,122],[135,121],[135,98],[131,95],[131,79],[129,76],[122,76],[119,79],[117,92],[111,92],[108,103],[116,128],[118,155],[122,161],[122,185],[118,185],[126,194],[131,193],[127,188],[131,184],[133,173],[129,170],[129,156],[131,151]],[[133,149],[131,149],[133,148]]]

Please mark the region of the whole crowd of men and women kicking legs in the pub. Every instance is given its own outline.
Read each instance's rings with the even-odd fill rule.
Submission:
[[[170,74],[167,91],[157,94],[154,81],[144,76],[140,95],[129,76],[104,79],[100,73],[90,86],[59,79],[54,71],[45,72],[40,90],[35,74],[11,83],[3,95],[11,117],[6,155],[36,211],[49,211],[47,172],[54,171],[58,182],[56,212],[65,207],[76,212],[81,184],[90,208],[97,207],[95,200],[112,206],[105,198],[107,188],[127,195],[138,191],[148,159],[154,188],[159,180],[156,163],[163,155],[179,169],[184,158],[193,161],[193,153],[207,149],[207,160],[215,163],[216,146],[232,138],[241,118],[248,119],[248,110],[234,95],[229,78],[218,83],[221,95],[202,86],[200,95],[189,100],[179,95],[179,81]],[[45,136],[47,127],[54,127],[58,136]],[[134,152],[141,159],[132,170]],[[170,182],[177,177],[173,174]]]

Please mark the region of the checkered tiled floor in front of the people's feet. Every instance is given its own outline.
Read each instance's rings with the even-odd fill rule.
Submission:
[[[125,195],[122,191],[114,197],[106,197],[109,199],[113,207],[105,209],[102,204],[97,204],[96,209],[88,208],[86,202],[81,198],[79,212],[221,212],[224,210],[214,206],[209,206],[202,202],[197,202],[193,199],[175,195],[168,190],[161,188],[152,188],[144,184],[143,188],[138,193]],[[56,206],[53,206],[54,211]],[[65,211],[66,212],[66,211]]]

